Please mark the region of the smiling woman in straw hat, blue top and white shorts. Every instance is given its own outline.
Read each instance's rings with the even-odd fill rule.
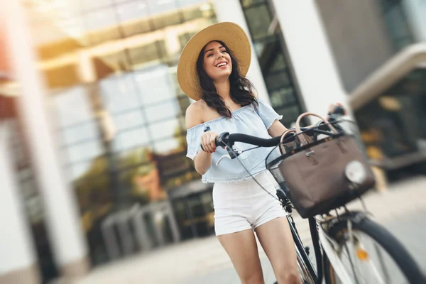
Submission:
[[[187,156],[203,182],[213,182],[215,232],[231,258],[241,283],[263,283],[256,232],[271,261],[278,283],[302,283],[297,273],[296,253],[280,202],[274,199],[273,178],[265,168],[271,148],[242,153],[238,160],[217,160],[226,154],[214,138],[224,131],[262,138],[280,136],[285,126],[268,104],[256,97],[245,75],[251,61],[251,46],[235,23],[217,23],[194,35],[182,51],[178,82],[196,102],[186,112]],[[209,126],[210,131],[206,131]],[[202,150],[201,146],[204,151]],[[252,146],[236,143],[240,149]]]

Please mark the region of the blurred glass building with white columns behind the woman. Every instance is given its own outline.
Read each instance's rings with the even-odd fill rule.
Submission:
[[[10,173],[17,181],[0,182],[0,187],[19,192],[8,198],[11,204],[24,204],[26,214],[21,219],[23,226],[31,224],[26,242],[33,251],[32,261],[24,260],[25,253],[17,256],[13,269],[38,263],[35,271],[47,282],[59,275],[85,273],[82,259],[98,266],[214,234],[212,186],[200,182],[192,161],[185,157],[185,110],[191,101],[176,80],[180,52],[197,31],[218,21],[234,21],[249,33],[253,63],[248,77],[259,96],[283,115],[283,124],[291,126],[302,111],[325,114],[330,103],[346,102],[348,94],[393,55],[425,40],[426,23],[415,8],[417,2],[21,0],[7,4],[4,16],[21,17],[9,19],[0,30],[0,126],[5,137],[0,148],[1,157],[10,156],[4,167],[13,168]],[[28,41],[19,41],[23,38]],[[33,53],[34,59],[27,53]],[[35,72],[23,62],[33,62]],[[424,72],[411,78],[410,86],[425,82]],[[33,88],[26,89],[27,83]],[[405,96],[402,88],[398,92]],[[417,104],[417,112],[424,116],[424,83],[417,90],[423,106],[419,110]],[[388,99],[388,104],[392,102]],[[48,111],[45,121],[31,119],[35,115],[31,109],[38,108]],[[375,111],[375,105],[356,110],[362,131]],[[45,125],[54,138],[42,143],[44,136],[38,135],[43,135]],[[423,129],[417,134],[424,133]],[[364,131],[364,137],[367,134]],[[381,151],[392,147],[382,144]],[[49,160],[48,153],[56,153],[58,162]],[[63,176],[50,172],[55,165]],[[38,178],[40,173],[52,173],[57,183]],[[68,193],[55,195],[67,190],[75,202],[67,201]],[[70,219],[62,220],[62,213]],[[80,220],[75,226],[68,222],[74,216]],[[72,245],[68,247],[67,241]],[[13,269],[4,266],[0,279]]]

